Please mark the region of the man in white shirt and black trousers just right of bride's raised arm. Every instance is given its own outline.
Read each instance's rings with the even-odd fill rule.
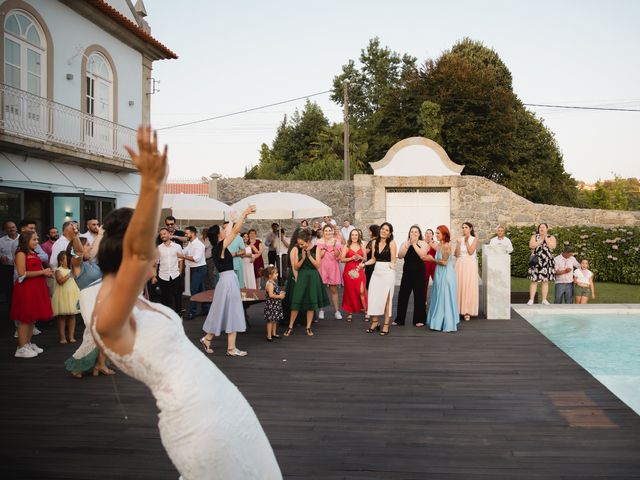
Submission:
[[[182,310],[182,247],[171,240],[167,228],[160,229],[162,243],[158,245],[158,273],[151,283],[160,287],[160,303],[172,308],[176,313]]]

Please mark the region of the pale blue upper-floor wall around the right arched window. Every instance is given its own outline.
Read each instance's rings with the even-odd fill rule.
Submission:
[[[97,44],[109,52],[115,63],[118,75],[117,123],[137,128],[142,121],[142,54],[57,1],[25,1],[44,18],[53,39],[53,100],[82,110],[82,54],[89,45]],[[66,79],[68,73],[73,74],[73,80]],[[133,106],[129,106],[129,100],[133,100]]]

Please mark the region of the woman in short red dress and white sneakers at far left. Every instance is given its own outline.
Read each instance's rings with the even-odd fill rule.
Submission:
[[[42,268],[42,260],[35,253],[36,245],[36,232],[27,231],[20,234],[15,256],[18,278],[13,286],[10,311],[11,319],[20,322],[18,348],[15,354],[18,358],[33,358],[43,352],[35,343],[31,343],[33,325],[37,321],[47,321],[53,317],[45,280],[53,273],[50,268]]]

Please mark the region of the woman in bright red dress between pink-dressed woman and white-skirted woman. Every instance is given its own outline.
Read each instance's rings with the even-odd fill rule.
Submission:
[[[344,263],[342,274],[344,293],[342,309],[347,312],[347,322],[357,312],[367,311],[367,278],[363,262],[366,260],[365,247],[359,230],[351,230],[349,241],[342,247],[340,261]]]

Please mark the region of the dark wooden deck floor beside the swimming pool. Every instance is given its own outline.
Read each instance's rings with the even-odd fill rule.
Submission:
[[[285,478],[640,478],[640,417],[515,313],[387,337],[330,319],[267,343],[261,308],[239,337],[249,356],[216,340],[211,360],[253,405]],[[202,319],[185,325],[197,341]],[[177,478],[144,386],[75,380],[62,365],[74,346],[53,328],[36,341],[45,353],[24,360],[0,339],[2,478]]]

